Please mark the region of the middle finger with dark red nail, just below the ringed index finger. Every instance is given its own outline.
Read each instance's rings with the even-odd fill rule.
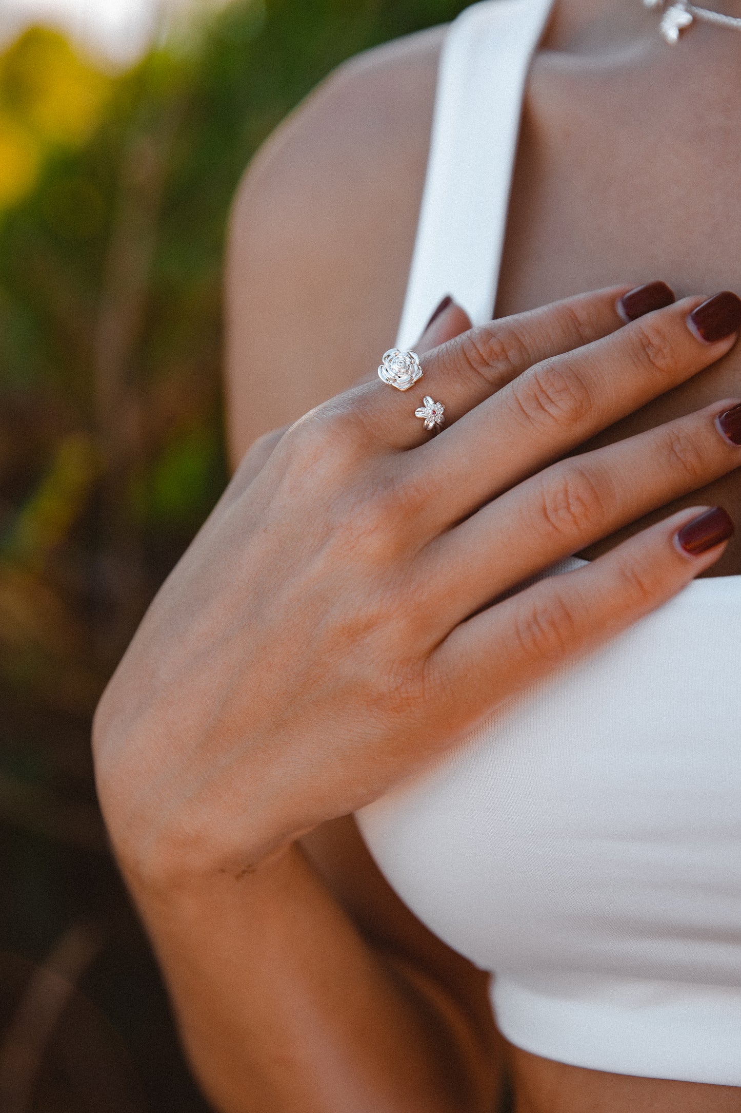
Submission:
[[[725,355],[738,336],[741,302],[731,294],[720,297],[728,311],[723,338],[717,338],[717,328],[711,341],[703,339],[695,324],[713,299],[684,298],[611,336],[543,359],[409,453],[410,480],[423,481],[429,495],[430,533]]]

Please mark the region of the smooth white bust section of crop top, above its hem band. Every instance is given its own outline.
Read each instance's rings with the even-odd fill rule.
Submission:
[[[359,814],[424,923],[518,981],[741,987],[740,592],[691,584]]]

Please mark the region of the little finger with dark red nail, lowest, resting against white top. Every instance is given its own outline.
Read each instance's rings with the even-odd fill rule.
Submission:
[[[718,560],[732,534],[724,510],[684,510],[458,626],[428,660],[448,737],[667,602]]]

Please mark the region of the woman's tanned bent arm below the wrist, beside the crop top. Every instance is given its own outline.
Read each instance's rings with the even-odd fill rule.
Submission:
[[[177,897],[132,888],[220,1113],[491,1110],[491,1072],[459,1007],[377,952],[300,849]]]

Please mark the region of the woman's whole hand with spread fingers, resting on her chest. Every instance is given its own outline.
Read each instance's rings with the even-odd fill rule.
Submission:
[[[468,331],[423,357],[408,393],[359,386],[259,470],[248,454],[97,715],[100,798],[130,877],[167,889],[253,870],[718,559],[728,518],[688,531],[702,509],[683,511],[490,605],[741,463],[717,423],[733,401],[563,459],[735,341],[732,321],[701,338],[700,298],[620,327],[623,294]],[[445,404],[435,437],[414,416],[423,395]]]

